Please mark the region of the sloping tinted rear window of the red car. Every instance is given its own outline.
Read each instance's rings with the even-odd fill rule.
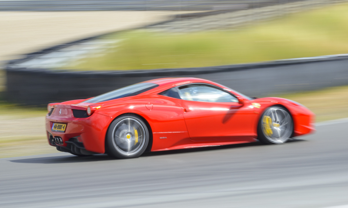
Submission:
[[[87,101],[84,101],[84,103],[100,103],[100,102],[110,101],[110,100],[121,98],[121,97],[139,95],[140,93],[143,93],[155,87],[158,87],[158,85],[154,83],[148,83],[148,82],[138,83],[135,85],[130,85],[127,87],[123,87],[123,88],[96,96]]]

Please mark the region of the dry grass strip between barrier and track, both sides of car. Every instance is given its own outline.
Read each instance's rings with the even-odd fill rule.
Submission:
[[[317,122],[348,117],[348,86],[277,96],[307,106]],[[46,111],[17,107],[3,113],[7,108],[0,105],[0,158],[58,152],[46,140]]]

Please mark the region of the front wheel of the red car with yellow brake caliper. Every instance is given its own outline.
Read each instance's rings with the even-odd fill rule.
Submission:
[[[290,113],[279,106],[269,107],[262,114],[258,125],[258,139],[264,144],[282,144],[293,133]]]

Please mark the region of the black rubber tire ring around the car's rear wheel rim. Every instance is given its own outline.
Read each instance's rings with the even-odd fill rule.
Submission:
[[[142,127],[144,128],[144,131],[145,131],[144,145],[142,146],[142,148],[140,149],[139,152],[137,152],[136,154],[133,154],[133,155],[125,155],[125,154],[118,152],[117,149],[114,147],[114,144],[112,142],[113,129],[115,128],[115,126],[117,125],[118,122],[120,122],[121,120],[126,119],[126,118],[132,118],[132,119],[139,121],[139,123],[142,125]],[[106,133],[106,138],[105,138],[105,152],[108,155],[115,157],[115,158],[119,158],[119,159],[137,158],[140,155],[142,155],[144,153],[144,151],[147,149],[147,146],[149,144],[149,139],[150,139],[149,135],[150,135],[149,130],[148,130],[145,122],[141,118],[134,116],[134,115],[121,115],[120,117],[113,120],[108,128],[108,131]]]

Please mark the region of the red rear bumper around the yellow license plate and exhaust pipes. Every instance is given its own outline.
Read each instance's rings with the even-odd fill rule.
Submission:
[[[111,118],[93,113],[88,118],[57,118],[46,116],[46,130],[48,143],[56,146],[57,150],[75,154],[105,153],[105,135]],[[52,131],[53,123],[66,123],[65,132]],[[55,143],[54,137],[62,139]],[[76,151],[74,152],[74,150]],[[82,152],[81,152],[82,151]]]

